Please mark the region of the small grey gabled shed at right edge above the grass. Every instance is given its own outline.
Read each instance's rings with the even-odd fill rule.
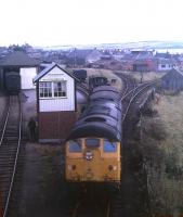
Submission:
[[[183,90],[183,73],[178,68],[172,68],[161,77],[161,87],[174,92]]]

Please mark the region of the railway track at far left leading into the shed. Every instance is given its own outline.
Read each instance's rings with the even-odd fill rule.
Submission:
[[[22,141],[22,110],[17,95],[9,98],[4,114],[4,125],[0,137],[0,191],[2,194],[3,217],[10,216],[11,204],[15,200],[14,184],[17,176],[18,156]],[[15,209],[13,209],[14,212]],[[16,216],[14,213],[12,216]]]

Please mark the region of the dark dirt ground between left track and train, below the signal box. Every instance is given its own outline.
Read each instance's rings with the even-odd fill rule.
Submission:
[[[61,145],[26,143],[19,217],[63,216],[62,150]]]

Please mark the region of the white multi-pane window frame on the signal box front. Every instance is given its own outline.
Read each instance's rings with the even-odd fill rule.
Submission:
[[[40,97],[40,89],[41,89],[41,87],[40,87],[40,84],[42,84],[42,82],[51,82],[51,97]],[[65,84],[65,95],[58,95],[58,97],[56,97],[55,95],[55,88],[54,88],[54,84],[57,84],[57,82],[64,82]],[[61,92],[61,91],[57,91],[57,92]],[[64,91],[62,91],[62,92],[64,92]],[[44,80],[44,81],[40,81],[39,82],[39,99],[60,99],[60,98],[67,98],[67,81],[66,80]]]

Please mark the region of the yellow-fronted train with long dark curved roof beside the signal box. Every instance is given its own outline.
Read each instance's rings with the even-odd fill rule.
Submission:
[[[67,181],[120,182],[121,115],[117,89],[112,86],[93,89],[65,142]]]

